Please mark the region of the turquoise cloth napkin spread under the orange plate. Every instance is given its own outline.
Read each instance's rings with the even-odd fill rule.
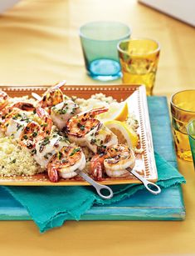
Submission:
[[[155,153],[158,168],[158,185],[168,188],[185,183],[178,170]],[[110,200],[100,198],[95,189],[85,186],[74,187],[4,187],[22,206],[27,208],[32,219],[37,223],[40,232],[60,227],[68,217],[76,220],[93,204],[106,205],[130,197],[140,189],[142,184],[115,185],[111,188],[114,197]],[[158,195],[154,195],[158,196]]]

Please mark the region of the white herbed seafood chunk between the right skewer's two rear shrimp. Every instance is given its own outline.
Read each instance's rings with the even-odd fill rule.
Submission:
[[[67,99],[51,108],[51,119],[56,127],[62,130],[66,127],[67,121],[78,113],[79,106],[71,99]]]

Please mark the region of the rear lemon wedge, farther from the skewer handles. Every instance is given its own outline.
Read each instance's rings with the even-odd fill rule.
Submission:
[[[100,113],[97,118],[105,123],[109,120],[125,121],[128,116],[128,104],[122,103],[110,103],[109,111]]]

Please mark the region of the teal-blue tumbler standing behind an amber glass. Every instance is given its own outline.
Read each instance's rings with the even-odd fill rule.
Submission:
[[[117,44],[130,37],[129,26],[119,22],[93,22],[80,27],[85,68],[91,78],[110,81],[121,77]]]

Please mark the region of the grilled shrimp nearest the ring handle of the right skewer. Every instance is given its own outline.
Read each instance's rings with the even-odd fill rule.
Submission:
[[[107,148],[104,154],[96,154],[90,161],[90,173],[100,180],[102,173],[111,178],[129,176],[126,168],[133,168],[135,162],[134,151],[127,145],[117,144]]]

